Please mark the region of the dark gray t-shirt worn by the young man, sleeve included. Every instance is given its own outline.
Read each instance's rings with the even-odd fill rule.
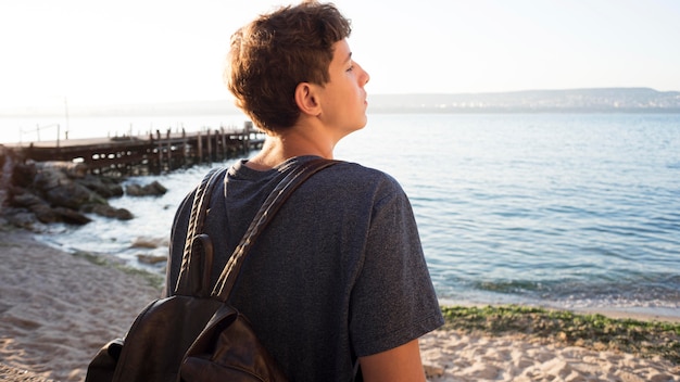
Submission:
[[[281,173],[311,158],[268,171],[241,161],[228,170],[204,229],[215,247],[213,282]],[[168,290],[191,198],[173,226]],[[315,174],[284,204],[248,255],[230,303],[294,381],[349,381],[356,357],[443,323],[406,194],[390,176],[344,162]]]

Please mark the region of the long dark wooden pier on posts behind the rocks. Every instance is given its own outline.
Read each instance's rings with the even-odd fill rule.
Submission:
[[[12,149],[36,162],[81,163],[93,174],[142,175],[243,155],[263,142],[264,135],[247,122],[242,129],[156,130],[148,136],[30,142]]]

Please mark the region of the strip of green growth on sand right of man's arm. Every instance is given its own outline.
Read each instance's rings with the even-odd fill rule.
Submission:
[[[680,364],[680,324],[580,315],[518,305],[442,307],[444,329],[491,335],[522,334],[596,351],[660,356]]]

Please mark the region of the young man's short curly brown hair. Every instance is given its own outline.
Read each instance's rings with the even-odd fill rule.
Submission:
[[[225,81],[236,105],[265,131],[295,124],[300,82],[324,86],[333,44],[348,38],[350,21],[332,3],[305,1],[261,15],[231,36]]]

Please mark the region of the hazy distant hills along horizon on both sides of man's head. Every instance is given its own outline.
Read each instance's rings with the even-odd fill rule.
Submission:
[[[494,93],[368,94],[370,113],[680,113],[679,91],[650,88],[526,90]],[[240,113],[230,101],[73,105],[72,116],[210,115]],[[61,116],[54,107],[0,107],[0,116]]]

